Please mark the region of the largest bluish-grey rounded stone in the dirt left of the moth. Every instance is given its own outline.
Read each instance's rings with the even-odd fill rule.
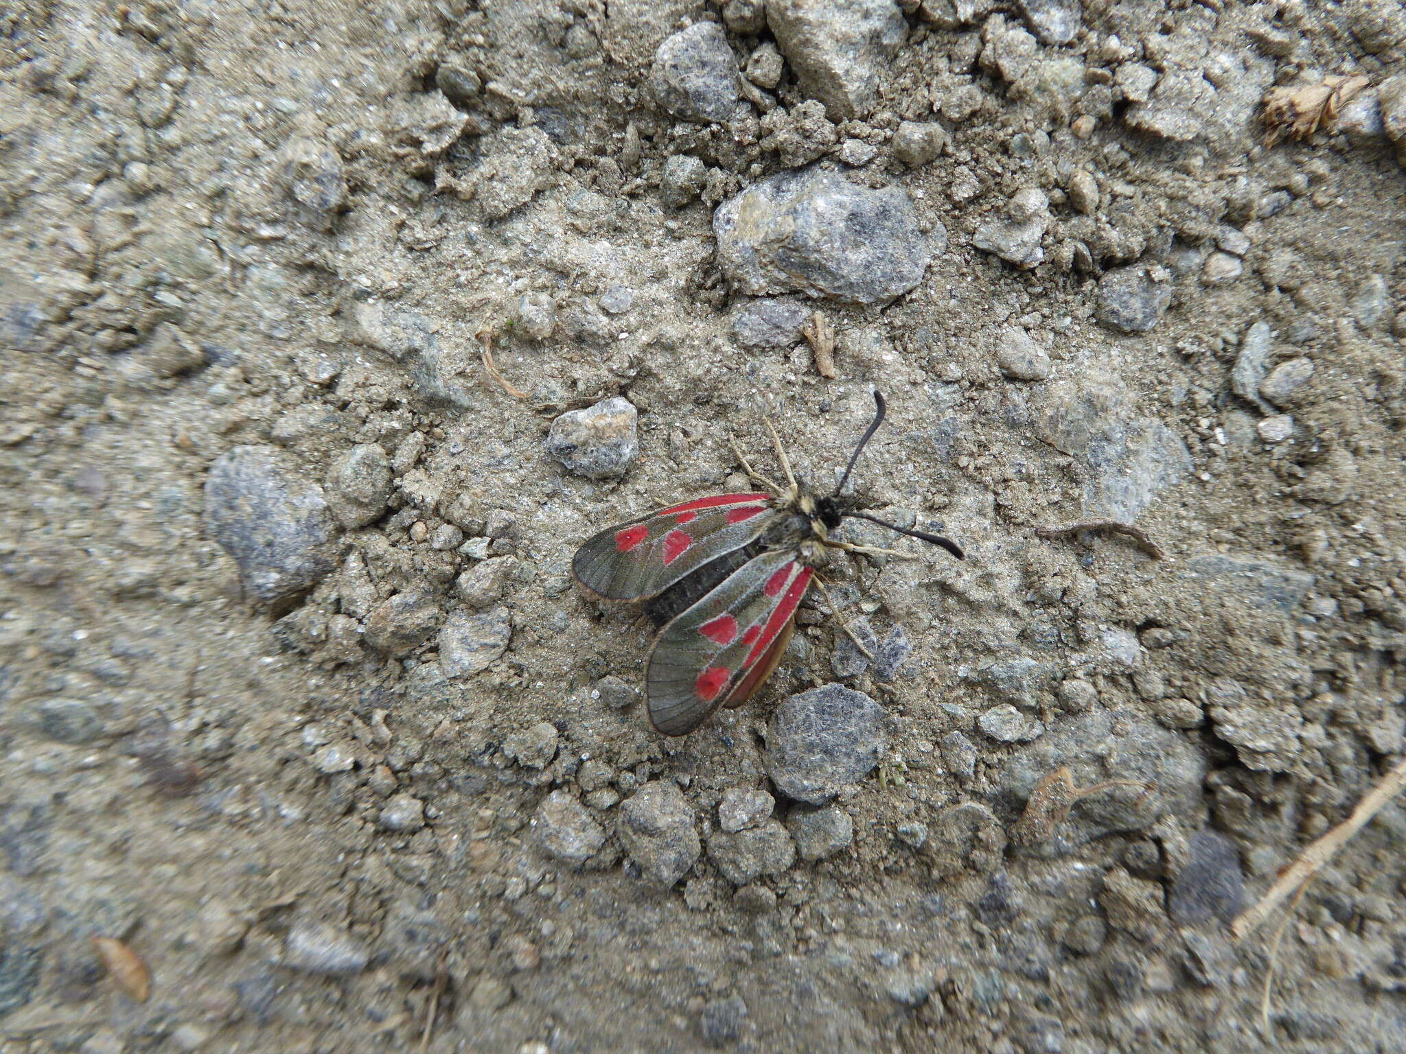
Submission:
[[[273,447],[235,447],[205,476],[205,531],[239,565],[245,590],[281,606],[335,566],[333,524],[322,488]]]

